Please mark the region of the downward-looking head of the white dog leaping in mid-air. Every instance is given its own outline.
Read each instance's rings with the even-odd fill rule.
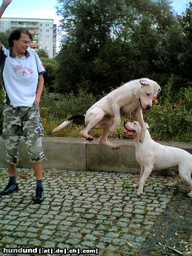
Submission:
[[[150,79],[140,79],[140,88],[134,92],[135,97],[140,102],[142,109],[148,110],[152,108],[152,100],[157,97],[161,87],[157,82]]]

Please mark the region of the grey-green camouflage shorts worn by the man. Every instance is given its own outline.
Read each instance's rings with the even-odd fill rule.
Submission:
[[[10,164],[19,162],[20,137],[24,137],[30,160],[33,163],[45,158],[42,138],[44,129],[41,124],[39,108],[32,107],[13,108],[5,105],[3,109],[3,133],[6,144],[6,160]]]

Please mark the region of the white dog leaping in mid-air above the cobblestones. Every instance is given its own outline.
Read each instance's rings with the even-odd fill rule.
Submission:
[[[141,142],[145,134],[145,123],[143,121],[142,109],[148,110],[152,107],[152,99],[157,96],[161,88],[157,82],[150,79],[137,79],[127,82],[119,88],[112,90],[105,97],[101,98],[93,106],[91,106],[85,117],[86,128],[81,131],[81,135],[87,141],[92,141],[93,137],[88,133],[91,129],[103,129],[103,134],[99,138],[99,143],[105,144],[111,148],[119,148],[119,144],[107,142],[109,134],[114,133],[120,125],[120,113],[127,114],[134,110],[135,117],[139,121],[141,131]],[[53,132],[58,131],[74,122],[74,119],[80,118],[80,115],[74,115],[61,123]]]

